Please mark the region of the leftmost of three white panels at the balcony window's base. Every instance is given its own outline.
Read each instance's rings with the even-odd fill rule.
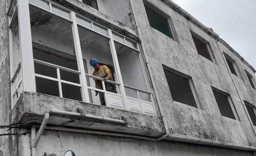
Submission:
[[[113,108],[119,108],[124,110],[123,107],[123,101],[121,96],[113,95],[113,94],[108,94],[107,95],[107,100],[108,100],[108,106],[113,107]]]

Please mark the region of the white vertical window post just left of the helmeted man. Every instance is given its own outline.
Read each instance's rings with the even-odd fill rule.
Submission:
[[[82,50],[80,47],[80,40],[79,40],[79,34],[78,34],[78,29],[77,29],[77,23],[76,23],[76,15],[75,15],[75,12],[73,12],[73,11],[71,11],[70,14],[71,14],[71,19],[73,20],[72,28],[73,28],[75,50],[76,50],[76,60],[77,60],[77,64],[78,64],[78,70],[81,72],[80,84],[82,85],[83,101],[90,103],[89,92],[88,92],[87,85],[86,85],[87,80],[86,80],[86,75],[85,75],[83,55],[82,55]]]

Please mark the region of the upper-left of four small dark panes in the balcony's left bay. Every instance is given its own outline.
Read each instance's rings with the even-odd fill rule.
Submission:
[[[54,67],[34,62],[34,69],[36,74],[45,75],[57,79],[57,70]]]

